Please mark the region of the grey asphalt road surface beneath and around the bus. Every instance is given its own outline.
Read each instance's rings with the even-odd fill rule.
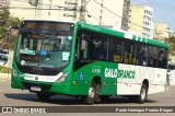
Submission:
[[[39,101],[35,93],[30,93],[28,91],[22,91],[22,90],[15,90],[11,89],[10,83],[0,82],[0,106],[33,106],[33,107],[43,107],[43,106],[68,106],[68,108],[73,109],[74,107],[78,107],[77,111],[83,109],[84,105],[80,98],[78,97],[71,97],[66,95],[55,95],[51,96],[49,101]],[[71,107],[69,107],[71,106]],[[144,104],[138,104],[135,102],[129,102],[128,98],[125,97],[110,97],[107,102],[101,103],[101,104],[94,104],[92,106],[89,106],[89,108],[92,108],[94,106],[102,106],[102,108],[114,108],[114,107],[129,107],[129,106],[175,106],[175,86],[168,86],[167,90],[163,93],[153,94],[148,96],[148,101]],[[57,107],[58,108],[58,107]],[[61,107],[62,108],[62,107]],[[67,107],[66,107],[67,108]],[[101,107],[97,107],[101,108]],[[96,108],[96,111],[97,111]],[[105,109],[103,109],[105,111]],[[50,116],[54,115],[75,115],[75,116],[82,116],[82,113],[52,113],[49,114]],[[4,115],[4,114],[0,114]],[[22,114],[18,114],[22,115]],[[25,114],[25,115],[33,115],[33,114]],[[47,115],[47,114],[43,114]],[[88,115],[97,115],[97,116],[114,116],[114,115],[121,115],[121,116],[175,116],[175,113],[83,113],[83,116]],[[14,116],[14,114],[13,114]]]

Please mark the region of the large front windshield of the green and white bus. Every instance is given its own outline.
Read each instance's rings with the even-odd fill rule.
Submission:
[[[62,28],[46,30],[50,24],[45,24],[45,27],[40,25],[20,31],[16,62],[24,67],[47,69],[66,66],[70,59],[73,33]]]

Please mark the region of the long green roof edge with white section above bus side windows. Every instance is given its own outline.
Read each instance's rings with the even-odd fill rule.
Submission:
[[[139,36],[139,35],[135,35],[135,34],[131,34],[127,31],[119,31],[119,30],[114,30],[114,28],[104,27],[104,26],[100,26],[100,25],[88,24],[85,22],[78,22],[78,24],[82,28],[86,28],[86,30],[90,30],[90,31],[104,33],[104,34],[109,34],[109,35],[113,35],[113,36],[118,36],[118,37],[125,37],[125,38],[132,39],[132,40],[136,40],[136,42],[141,42],[141,43],[145,43],[145,44],[150,44],[150,45],[155,45],[155,46],[168,48],[168,45],[165,44],[165,43],[158,42],[155,39],[151,39],[151,38],[147,38],[147,37],[142,37],[142,36]]]

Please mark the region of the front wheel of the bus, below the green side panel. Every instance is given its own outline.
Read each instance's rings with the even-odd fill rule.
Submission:
[[[88,104],[88,105],[92,105],[95,102],[95,96],[96,96],[96,84],[95,82],[92,82],[90,89],[89,89],[89,93],[85,96],[81,96],[81,100]]]

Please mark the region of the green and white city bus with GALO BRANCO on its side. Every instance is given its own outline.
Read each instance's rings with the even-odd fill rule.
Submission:
[[[113,95],[144,103],[163,92],[164,43],[85,22],[23,20],[14,49],[11,85],[35,92],[80,96],[91,105]]]

